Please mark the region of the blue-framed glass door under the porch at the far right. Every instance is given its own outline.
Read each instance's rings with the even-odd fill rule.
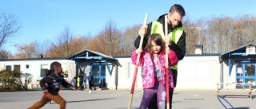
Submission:
[[[256,88],[255,65],[256,64],[254,61],[244,61],[244,62],[237,63],[236,64],[237,83],[251,83],[252,88]],[[248,87],[249,87],[248,84],[241,84],[241,85],[237,85],[236,88],[248,88]]]

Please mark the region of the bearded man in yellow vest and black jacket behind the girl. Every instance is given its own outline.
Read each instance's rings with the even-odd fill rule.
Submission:
[[[144,40],[142,44],[142,49],[145,49],[147,39],[152,33],[160,33],[163,36],[165,33],[165,15],[163,14],[158,18],[157,21],[152,21],[150,24],[146,25],[146,27],[142,26],[139,29],[139,34],[144,34]],[[186,53],[186,33],[182,29],[182,18],[186,15],[185,10],[179,4],[174,4],[174,6],[170,7],[169,13],[167,14],[167,22],[168,22],[168,36],[170,37],[170,45],[169,48],[172,49],[176,55],[178,56],[178,60],[182,60]],[[167,36],[165,36],[167,37]],[[136,49],[139,47],[141,37],[138,36],[134,41],[134,46]],[[174,76],[174,87],[176,87],[177,83],[177,70],[178,67],[171,67],[171,71]],[[170,108],[171,102],[173,98],[174,91],[170,91]],[[156,109],[156,95],[152,98],[150,102],[149,109]]]

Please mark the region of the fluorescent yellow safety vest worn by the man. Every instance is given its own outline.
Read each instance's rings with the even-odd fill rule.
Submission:
[[[151,34],[153,33],[159,33],[162,38],[164,38],[164,33],[163,33],[163,29],[162,29],[162,24],[158,21],[152,21],[152,26],[151,26]],[[182,33],[183,33],[183,29],[182,27],[176,27],[173,29],[172,32],[170,32],[168,34],[168,36],[170,36],[170,40],[174,41],[174,43],[176,44],[179,40],[180,37],[182,37]],[[171,66],[171,69],[178,69],[178,64],[175,66]]]

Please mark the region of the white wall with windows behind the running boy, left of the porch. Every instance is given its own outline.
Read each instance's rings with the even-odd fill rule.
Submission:
[[[50,64],[58,61],[62,64],[64,78],[68,81],[75,76],[75,64],[65,58],[10,59],[0,61],[0,70],[18,70],[33,76],[32,84],[38,84],[44,74],[50,69]],[[29,85],[30,86],[30,85]]]

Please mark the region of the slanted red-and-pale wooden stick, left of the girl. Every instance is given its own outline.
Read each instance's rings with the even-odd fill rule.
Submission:
[[[143,22],[144,27],[146,27],[147,18],[148,18],[148,15],[146,14],[144,22]],[[141,41],[139,42],[139,49],[142,48],[143,39],[144,39],[144,36],[142,35],[141,36]],[[129,104],[128,104],[128,109],[131,108],[131,104],[132,104],[133,98],[134,98],[134,86],[135,86],[135,81],[137,79],[138,62],[139,62],[140,56],[141,56],[141,53],[138,53],[137,61],[136,61],[136,68],[135,68],[135,71],[134,71],[134,80],[133,80],[133,84],[131,85],[131,89],[130,89],[130,100],[129,100]]]

